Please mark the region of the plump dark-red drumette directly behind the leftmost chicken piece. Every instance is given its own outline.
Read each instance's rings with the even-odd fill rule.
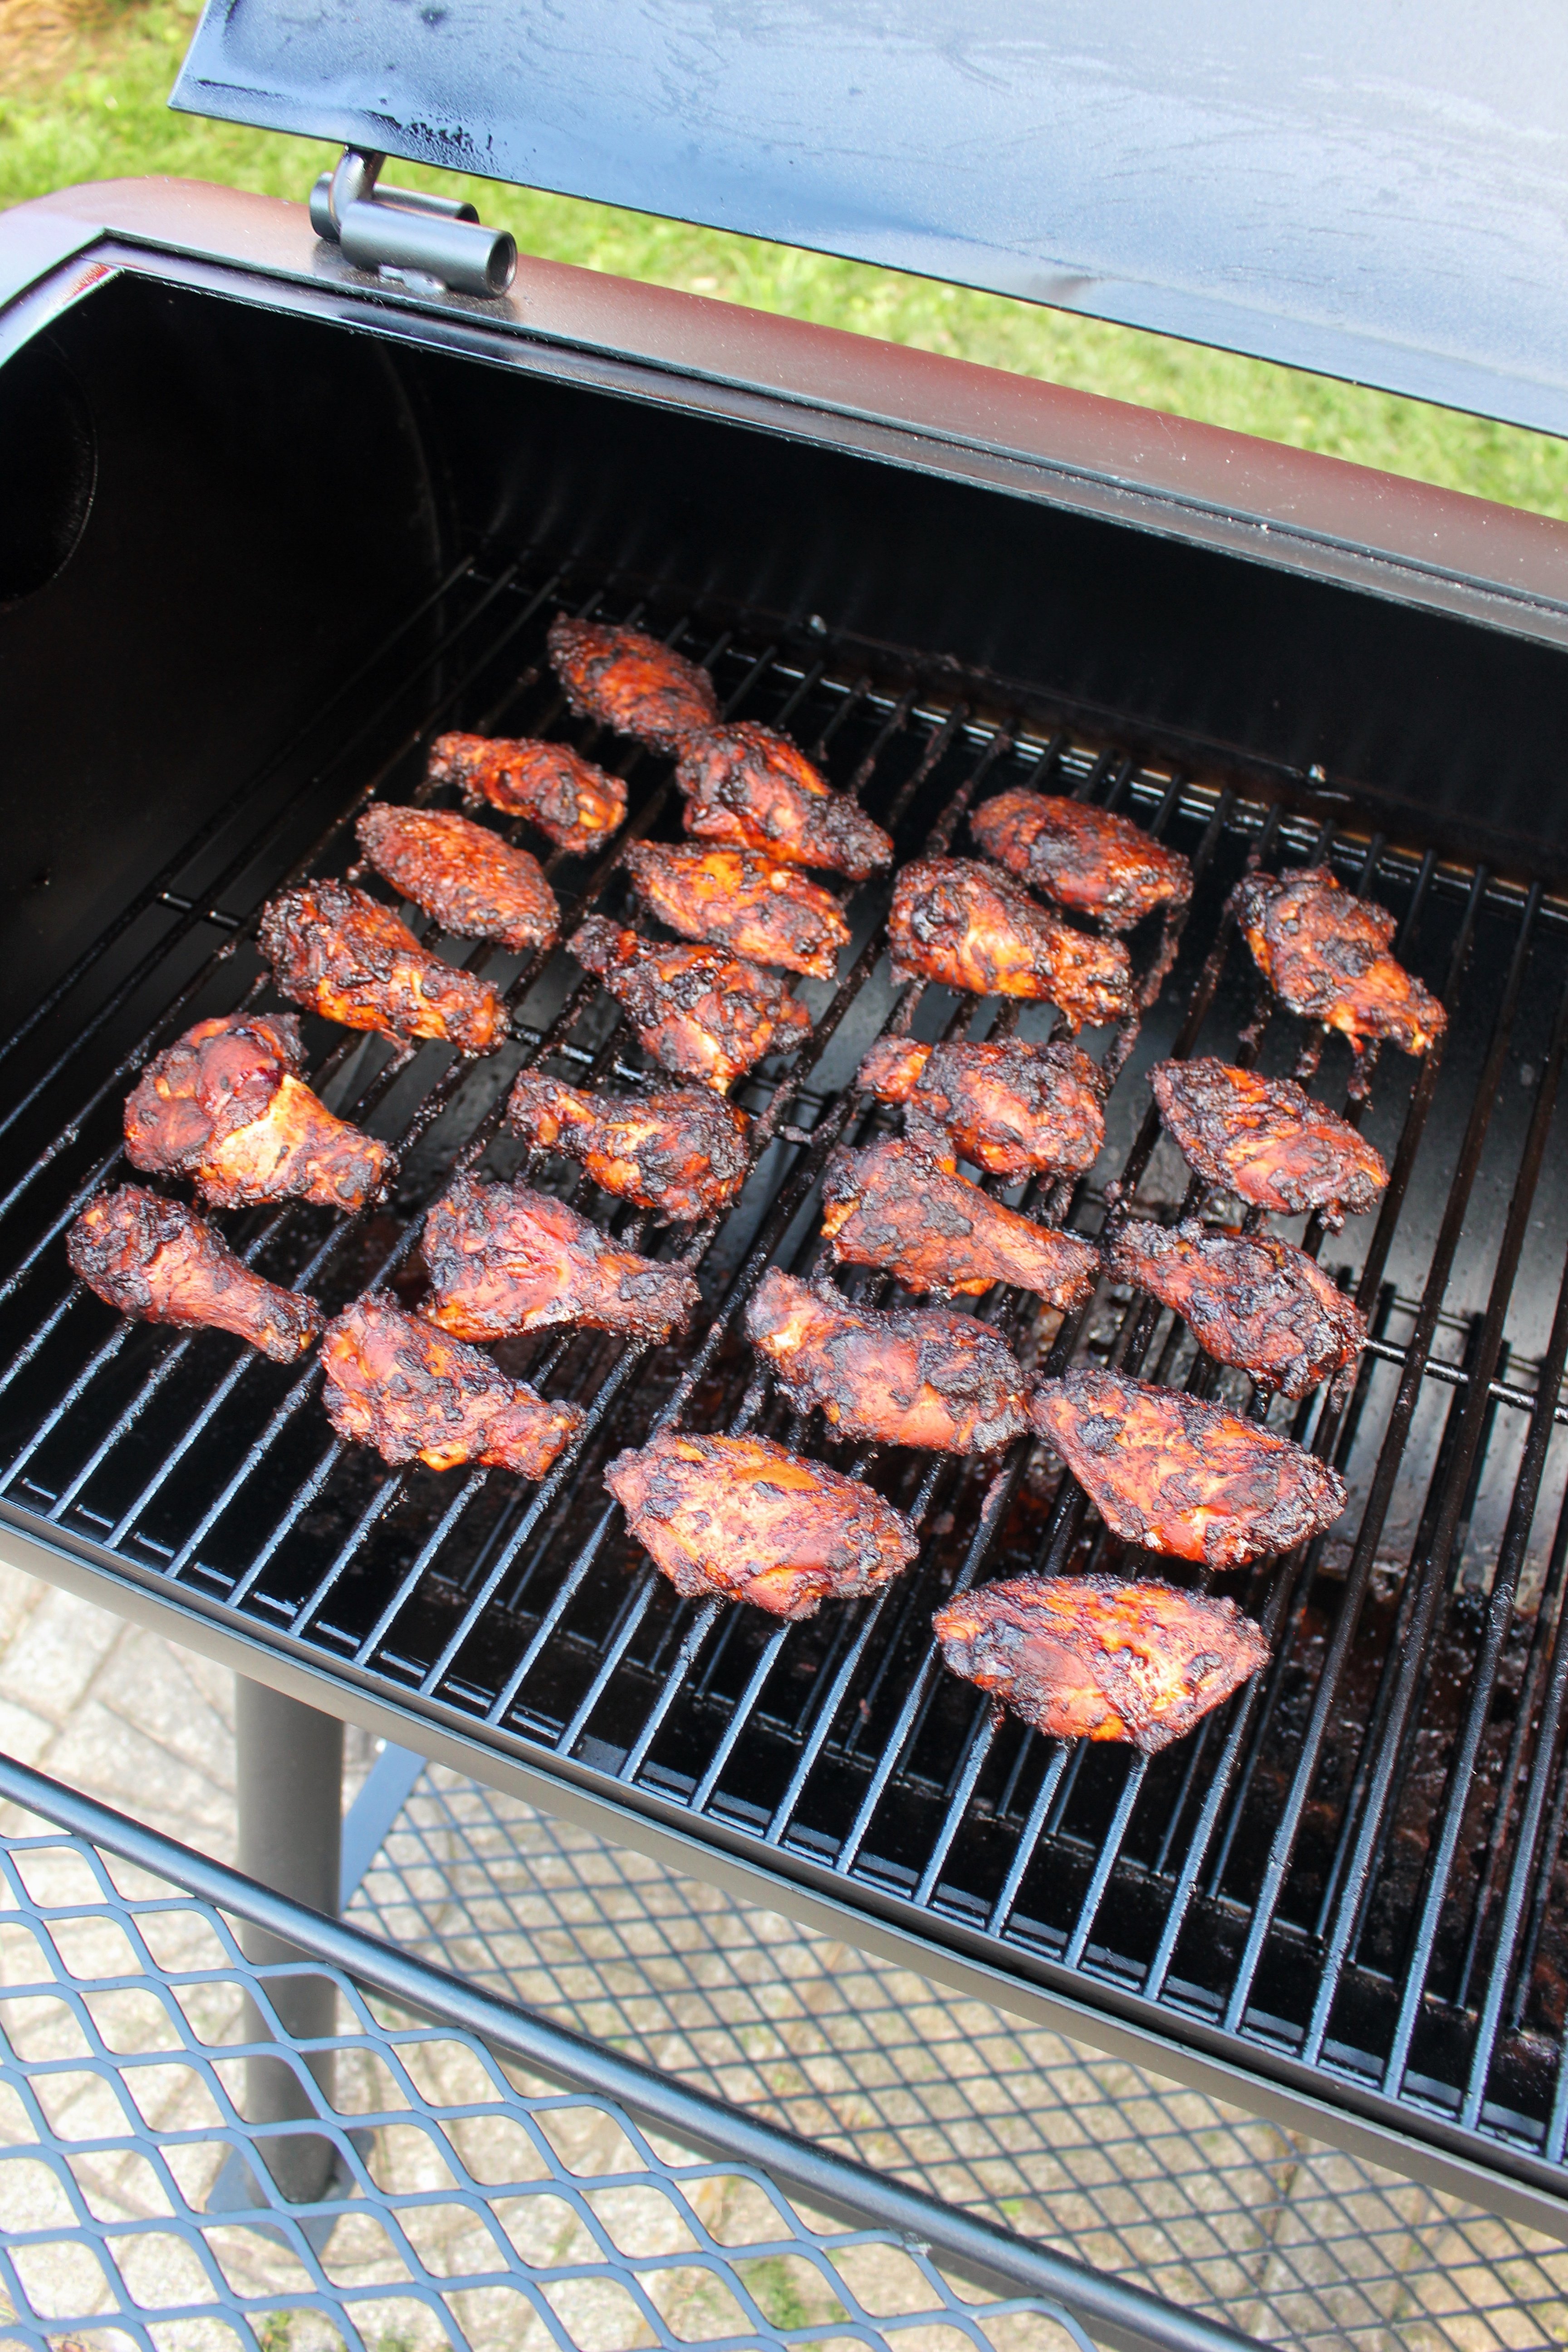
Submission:
[[[219,1209],[261,1200],[362,1209],[397,1162],[317,1103],[294,1075],[303,1061],[294,1014],[197,1021],[127,1098],[127,1160],[148,1176],[190,1176]]]

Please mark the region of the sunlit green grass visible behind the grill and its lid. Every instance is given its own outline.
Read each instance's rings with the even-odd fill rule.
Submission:
[[[0,205],[141,172],[303,198],[329,148],[167,111],[195,14],[193,0],[118,0],[80,33],[63,71],[0,96]],[[402,165],[397,179],[463,186]],[[552,261],[983,360],[1568,517],[1568,445],[1547,435],[755,238],[494,181],[465,191],[524,252]]]

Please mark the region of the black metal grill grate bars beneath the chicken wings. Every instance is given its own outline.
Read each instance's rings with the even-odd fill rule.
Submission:
[[[1305,1235],[1371,1317],[1354,1395],[1340,1411],[1321,1397],[1267,1411],[1342,1468],[1352,1508],[1305,1555],[1220,1581],[1262,1621],[1274,1663],[1166,1755],[992,1724],[933,1661],[929,1618],[954,1588],[1121,1564],[1039,1446],[999,1463],[853,1454],[755,1381],[743,1301],[766,1263],[811,1263],[832,1145],[893,1117],[853,1091],[865,1047],[889,1021],[936,1037],[1018,1016],[893,985],[879,953],[886,880],[851,898],[837,990],[802,983],[811,1044],[738,1094],[759,1115],[759,1155],[717,1230],[661,1232],[564,1162],[534,1164],[599,1223],[693,1265],[705,1303],[696,1334],[663,1350],[592,1331],[498,1350],[590,1409],[583,1442],[538,1489],[501,1472],[393,1472],[334,1442],[313,1369],[284,1371],[219,1334],[120,1322],[71,1282],[61,1235],[92,1188],[122,1174],[136,1065],[205,1014],[275,1002],[252,936],[261,901],[284,877],[341,873],[353,816],[369,795],[421,788],[435,731],[567,729],[628,774],[632,833],[677,835],[668,762],[569,729],[543,659],[562,604],[637,619],[708,661],[726,708],[790,729],[896,830],[900,858],[931,840],[966,849],[973,797],[1020,781],[1119,807],[1192,856],[1192,915],[1110,1096],[1105,1155],[1077,1190],[1046,1188],[1041,1214],[1093,1232],[1112,1178],[1154,1214],[1192,1207],[1150,1108],[1150,1061],[1218,1051],[1295,1068],[1309,1040],[1279,1011],[1253,1021],[1251,957],[1225,913],[1248,854],[1333,861],[1396,910],[1396,953],[1443,995],[1441,1058],[1385,1054],[1373,1075],[1363,1124],[1394,1169],[1380,1214]],[[863,675],[827,626],[769,642],[745,619],[708,623],[701,600],[668,586],[548,576],[527,557],[458,564],[301,741],[237,781],[0,1049],[5,1510],[254,1642],[306,1651],[512,1755],[567,1762],[578,1783],[961,1938],[1001,1971],[1154,2004],[1173,2034],[1244,2065],[1305,2063],[1331,2100],[1380,2091],[1450,2140],[1556,2166],[1568,1188],[1552,1171],[1566,1143],[1568,908],[1408,835],[1385,840],[1342,800],[1307,788],[1262,800],[1220,764],[1150,767],[966,694],[950,663],[914,654]],[[618,847],[597,866],[550,863],[569,920],[590,903],[623,908]],[[510,993],[515,1042],[489,1061],[395,1054],[306,1023],[317,1091],[397,1143],[395,1200],[348,1221],[299,1202],[223,1221],[266,1275],[329,1310],[371,1284],[418,1296],[421,1216],[456,1162],[520,1171],[501,1122],[520,1063],[555,1056],[585,1084],[646,1077],[616,1007],[564,953],[522,962],[458,941],[442,953]],[[1027,1007],[1018,1025],[1046,1035],[1048,1011]],[[1086,1042],[1117,1049],[1110,1033]],[[1338,1042],[1314,1084],[1345,1108]],[[1088,1352],[1267,1409],[1138,1296],[1103,1287],[1065,1327],[1018,1296],[985,1310],[1039,1367]],[[611,1454],[672,1416],[853,1463],[919,1519],[919,1564],[795,1628],[679,1602],[599,1484]]]

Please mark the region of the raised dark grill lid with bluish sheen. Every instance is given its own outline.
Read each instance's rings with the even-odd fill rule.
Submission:
[[[174,106],[1568,430],[1549,0],[207,0]]]

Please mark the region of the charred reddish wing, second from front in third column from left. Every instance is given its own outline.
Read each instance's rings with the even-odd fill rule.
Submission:
[[[795,1411],[820,1404],[839,1437],[994,1454],[1030,1425],[1013,1350],[973,1315],[875,1315],[773,1268],[745,1329]]]

